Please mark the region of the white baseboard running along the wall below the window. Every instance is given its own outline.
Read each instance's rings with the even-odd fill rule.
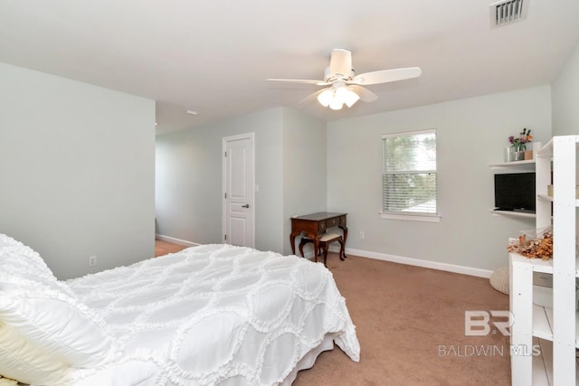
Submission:
[[[339,252],[340,249],[337,247],[331,246],[329,248],[329,250],[331,250],[332,252]],[[476,276],[478,278],[490,278],[490,275],[492,274],[492,271],[488,270],[488,269],[464,267],[464,266],[458,266],[455,264],[447,264],[447,263],[422,260],[422,259],[404,258],[402,256],[394,256],[394,255],[388,255],[385,253],[369,252],[367,250],[361,250],[361,249],[346,248],[346,256],[348,254],[352,254],[354,256],[359,256],[361,258],[390,261],[392,263],[406,264],[409,266],[416,266],[416,267],[422,267],[422,268],[432,268],[432,269],[438,269],[438,270],[443,270],[443,271],[447,271],[447,272],[460,273],[462,275]]]

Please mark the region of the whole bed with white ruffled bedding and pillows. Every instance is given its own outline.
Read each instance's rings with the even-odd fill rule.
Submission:
[[[59,281],[0,235],[0,374],[44,385],[289,385],[334,344],[359,361],[331,272],[201,245]]]

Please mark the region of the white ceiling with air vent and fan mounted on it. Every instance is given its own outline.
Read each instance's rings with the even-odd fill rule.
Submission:
[[[265,79],[321,79],[333,48],[356,73],[422,68],[368,86],[372,103],[301,107],[331,120],[548,84],[579,2],[525,1],[526,20],[491,28],[494,0],[0,0],[0,61],[155,99],[157,133],[298,108],[319,88]]]

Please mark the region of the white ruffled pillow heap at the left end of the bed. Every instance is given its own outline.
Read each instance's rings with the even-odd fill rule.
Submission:
[[[28,362],[43,373],[114,360],[114,341],[100,315],[54,278],[33,249],[9,245],[5,239],[0,242],[2,346],[18,348],[0,351],[0,373],[14,373],[19,362]],[[29,362],[33,350],[39,360]],[[39,379],[32,383],[39,382],[45,384]]]

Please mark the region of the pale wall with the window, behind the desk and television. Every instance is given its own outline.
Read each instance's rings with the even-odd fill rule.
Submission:
[[[535,225],[489,213],[489,164],[503,161],[508,136],[523,127],[533,130],[536,141],[551,137],[548,86],[329,122],[327,210],[348,213],[346,247],[377,258],[483,270],[507,265],[508,237]],[[441,222],[381,219],[381,136],[426,128],[437,129]]]

